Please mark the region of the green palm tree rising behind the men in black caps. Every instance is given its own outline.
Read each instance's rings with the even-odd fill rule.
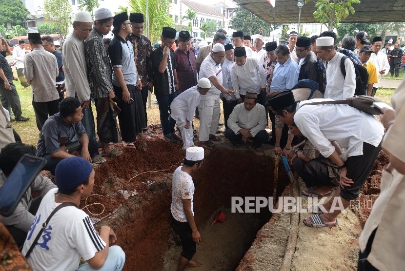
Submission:
[[[169,17],[170,3],[166,0],[149,0],[149,39],[152,42],[159,40],[163,26],[174,26],[173,19]],[[130,12],[146,14],[145,0],[128,0]],[[145,16],[146,20],[146,16]],[[146,27],[146,23],[145,23]],[[146,33],[145,33],[146,34]]]

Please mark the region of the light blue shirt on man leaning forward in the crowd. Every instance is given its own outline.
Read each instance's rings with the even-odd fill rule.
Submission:
[[[283,65],[277,62],[273,72],[270,91],[286,91],[292,89],[298,82],[300,69],[295,61],[288,58]]]

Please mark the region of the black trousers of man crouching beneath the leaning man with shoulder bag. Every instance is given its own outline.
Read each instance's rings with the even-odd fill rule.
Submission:
[[[305,162],[298,157],[294,159],[293,164],[295,172],[303,179],[306,187],[337,186],[331,182],[333,178],[329,177],[328,168],[325,164],[316,160]]]

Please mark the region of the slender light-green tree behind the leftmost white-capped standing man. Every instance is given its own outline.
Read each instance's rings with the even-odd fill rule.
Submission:
[[[72,22],[72,6],[69,0],[45,0],[43,3],[43,16],[53,22],[61,43],[69,34],[69,25]]]

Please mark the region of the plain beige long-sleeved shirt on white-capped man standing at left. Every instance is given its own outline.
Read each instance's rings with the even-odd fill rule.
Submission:
[[[91,91],[87,79],[84,40],[79,39],[74,31],[63,43],[62,59],[67,96],[75,97],[77,94],[80,102],[89,100]]]

